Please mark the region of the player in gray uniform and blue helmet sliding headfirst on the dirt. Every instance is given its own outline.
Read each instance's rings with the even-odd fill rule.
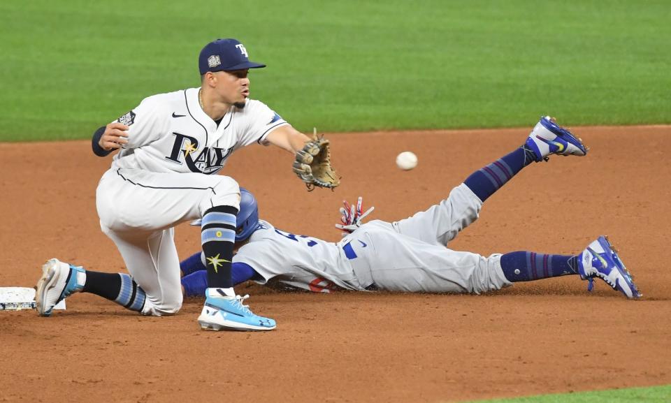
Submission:
[[[605,281],[628,298],[640,293],[606,237],[599,237],[576,256],[536,254],[479,254],[454,251],[446,245],[475,221],[486,198],[532,161],[549,154],[584,156],[579,138],[542,118],[525,144],[514,152],[477,170],[449,193],[449,197],[424,212],[392,223],[375,220],[361,225],[361,198],[356,208],[341,209],[338,226],[347,233],[332,243],[294,235],[258,217],[253,196],[243,195],[240,214],[251,217],[238,226],[250,237],[233,258],[236,283],[252,279],[259,284],[315,292],[337,289],[356,291],[406,291],[431,293],[484,293],[566,274]],[[249,210],[254,210],[250,212]],[[370,211],[370,210],[369,210]],[[258,223],[258,224],[257,224]],[[249,226],[255,226],[253,231]],[[182,286],[197,295],[206,286],[201,254],[182,262]]]

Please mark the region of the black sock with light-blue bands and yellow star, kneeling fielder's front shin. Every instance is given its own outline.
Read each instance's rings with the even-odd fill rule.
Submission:
[[[231,261],[236,242],[238,209],[216,206],[203,214],[201,244],[210,288],[231,288]]]

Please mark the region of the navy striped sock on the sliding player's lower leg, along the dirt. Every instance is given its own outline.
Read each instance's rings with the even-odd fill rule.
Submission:
[[[578,274],[578,256],[511,252],[501,256],[501,269],[513,283]]]

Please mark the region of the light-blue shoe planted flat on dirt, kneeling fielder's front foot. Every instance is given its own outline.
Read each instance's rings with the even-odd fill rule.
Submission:
[[[208,288],[205,295],[205,306],[198,317],[201,329],[273,330],[277,326],[273,319],[254,315],[248,305],[243,305],[249,295],[231,297],[221,288]]]

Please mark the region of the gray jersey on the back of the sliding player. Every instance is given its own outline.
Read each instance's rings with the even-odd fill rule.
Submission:
[[[338,244],[287,233],[263,220],[250,242],[233,256],[233,265],[240,263],[263,277],[257,279],[259,284],[275,288],[326,293],[337,288],[361,289]]]

